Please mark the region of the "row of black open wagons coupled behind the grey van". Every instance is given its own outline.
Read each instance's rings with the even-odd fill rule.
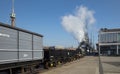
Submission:
[[[75,58],[76,50],[60,49],[55,47],[44,48],[44,67],[56,67],[58,64],[70,62]]]

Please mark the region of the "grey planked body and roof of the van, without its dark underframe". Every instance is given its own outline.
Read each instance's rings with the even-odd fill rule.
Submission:
[[[43,36],[0,23],[0,64],[42,60]]]

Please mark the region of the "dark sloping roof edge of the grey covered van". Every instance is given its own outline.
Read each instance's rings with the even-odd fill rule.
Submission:
[[[35,33],[35,32],[31,32],[31,31],[28,31],[28,30],[25,30],[25,29],[22,29],[22,28],[18,28],[18,27],[12,27],[12,26],[10,26],[8,24],[5,24],[5,23],[1,23],[0,22],[0,26],[11,28],[11,29],[14,29],[14,30],[19,30],[19,31],[22,31],[22,32],[26,32],[26,33],[30,33],[30,34],[34,34],[34,35],[43,37],[43,35],[41,35],[41,34],[38,34],[38,33]]]

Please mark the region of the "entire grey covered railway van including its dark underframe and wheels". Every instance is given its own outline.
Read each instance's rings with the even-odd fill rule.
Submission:
[[[0,23],[0,74],[33,74],[42,62],[43,36]]]

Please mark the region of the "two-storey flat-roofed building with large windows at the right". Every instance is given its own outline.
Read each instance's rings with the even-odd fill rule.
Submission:
[[[120,55],[120,29],[100,29],[98,45],[101,55]]]

